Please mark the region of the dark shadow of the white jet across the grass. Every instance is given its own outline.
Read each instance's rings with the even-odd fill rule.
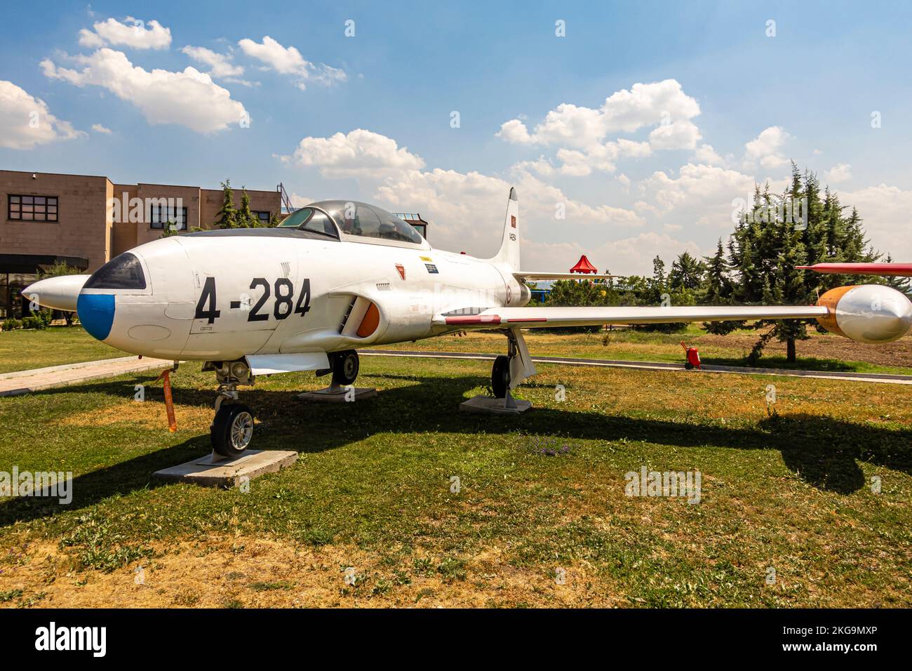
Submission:
[[[154,378],[145,380],[151,383]],[[380,433],[395,435],[426,431],[490,435],[521,431],[527,435],[586,440],[626,438],[680,447],[776,449],[782,454],[785,466],[804,482],[839,494],[850,494],[867,484],[859,462],[912,473],[912,430],[857,425],[811,414],[773,416],[762,420],[759,430],[547,407],[536,407],[532,412],[517,417],[464,414],[459,412],[459,404],[466,399],[465,393],[487,384],[485,377],[421,378],[365,373],[359,378],[359,383],[376,384],[383,390],[385,380],[414,384],[380,391],[376,398],[357,404],[313,404],[298,401],[295,398],[298,392],[255,387],[245,390],[241,400],[254,409],[258,420],[254,448],[317,453]],[[87,383],[39,393],[101,392],[130,398],[134,384],[138,382],[143,382],[143,379]],[[147,398],[161,402],[161,389],[157,391],[159,396],[154,395],[154,387],[148,389]],[[212,407],[212,391],[178,386],[174,393],[179,404]],[[157,410],[150,409],[150,413],[160,412],[161,405]],[[161,431],[167,433],[164,420]],[[180,425],[178,431],[181,431]],[[47,517],[54,512],[85,508],[113,495],[161,487],[167,483],[152,479],[153,472],[204,456],[211,449],[208,433],[192,435],[178,445],[163,447],[74,477],[73,500],[67,506],[58,504],[55,498],[8,499],[0,504],[0,526]]]

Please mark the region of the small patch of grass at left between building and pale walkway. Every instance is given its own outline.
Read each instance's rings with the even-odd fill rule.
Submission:
[[[92,338],[81,326],[0,331],[0,372],[128,356]]]

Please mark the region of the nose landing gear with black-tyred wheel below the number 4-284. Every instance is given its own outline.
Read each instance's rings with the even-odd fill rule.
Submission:
[[[214,371],[219,388],[215,397],[215,417],[209,427],[212,450],[226,458],[244,454],[254,437],[254,411],[238,403],[238,385],[253,385],[247,362],[206,362],[203,371]]]

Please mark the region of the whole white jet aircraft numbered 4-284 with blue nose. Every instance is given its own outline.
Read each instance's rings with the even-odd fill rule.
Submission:
[[[493,363],[492,389],[509,404],[510,390],[535,372],[521,329],[816,318],[855,341],[887,342],[912,326],[908,299],[880,285],[833,289],[814,306],[526,308],[526,281],[580,276],[520,270],[521,230],[515,189],[492,258],[433,249],[373,205],[324,201],[275,228],[161,238],[91,276],[43,279],[23,294],[76,309],[89,333],[120,350],[204,362],[219,383],[211,436],[223,456],[240,455],[253,436],[239,385],[292,371],[331,372],[333,383],[352,384],[358,348],[373,345],[501,330],[507,354]]]

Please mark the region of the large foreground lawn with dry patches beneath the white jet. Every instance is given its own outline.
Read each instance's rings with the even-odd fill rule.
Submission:
[[[0,398],[0,470],[75,476],[0,501],[0,605],[912,605],[912,389],[541,365],[531,412],[460,414],[488,375],[365,357],[378,397],[328,405],[260,379],[254,446],[300,456],[249,491],[150,480],[210,450],[199,364],[173,435],[151,374]],[[644,466],[699,470],[700,503],[627,497]]]

